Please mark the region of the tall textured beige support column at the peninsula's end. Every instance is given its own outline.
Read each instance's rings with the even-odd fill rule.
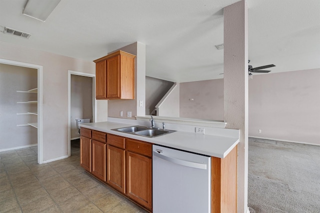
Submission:
[[[248,18],[245,0],[224,7],[224,121],[240,129],[237,212],[247,212]]]

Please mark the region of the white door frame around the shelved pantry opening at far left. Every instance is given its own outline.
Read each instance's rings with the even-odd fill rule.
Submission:
[[[37,78],[38,78],[37,79],[37,87],[38,87],[38,92],[37,92],[37,100],[38,100],[38,103],[37,103],[38,159],[37,159],[37,163],[42,164],[43,163],[43,132],[42,132],[42,129],[43,129],[42,128],[42,82],[43,82],[42,72],[43,72],[43,66],[37,65],[37,64],[32,64],[32,63],[24,63],[24,62],[15,61],[15,60],[7,60],[7,59],[2,59],[2,58],[0,58],[0,63],[37,69]]]

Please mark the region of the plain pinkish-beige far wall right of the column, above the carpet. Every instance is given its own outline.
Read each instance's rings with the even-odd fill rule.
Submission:
[[[320,68],[254,75],[249,135],[320,145]]]

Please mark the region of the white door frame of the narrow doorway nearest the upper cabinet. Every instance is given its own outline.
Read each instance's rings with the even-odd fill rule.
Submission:
[[[72,71],[68,70],[68,156],[71,156],[71,74],[80,75],[85,77],[92,77],[92,114],[94,122],[96,120],[96,99],[95,99],[95,74],[86,73],[86,72],[79,72],[79,71]]]

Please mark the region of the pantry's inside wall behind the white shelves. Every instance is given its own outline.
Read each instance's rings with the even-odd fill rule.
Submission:
[[[36,100],[37,93],[22,93],[37,87],[37,69],[0,63],[0,150],[37,144],[37,129],[30,125],[37,116],[17,115],[37,111],[35,103],[17,101]]]

